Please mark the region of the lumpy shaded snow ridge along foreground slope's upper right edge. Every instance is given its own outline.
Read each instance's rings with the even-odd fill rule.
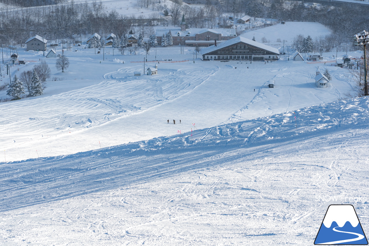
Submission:
[[[323,136],[327,131],[366,128],[368,124],[369,97],[364,97],[202,130],[196,130],[194,125],[192,132],[124,144],[121,147],[128,153],[136,150],[154,151],[200,146],[247,147],[312,135]]]

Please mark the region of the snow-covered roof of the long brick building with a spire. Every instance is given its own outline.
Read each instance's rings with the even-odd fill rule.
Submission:
[[[168,32],[172,33],[173,37],[195,37],[196,34],[211,32],[215,34],[221,34],[222,37],[237,36],[236,29],[233,28],[223,28],[223,29],[209,29],[209,28],[187,28],[186,31],[181,31],[180,28],[170,28],[170,29],[157,29],[155,36],[162,37],[163,34]]]

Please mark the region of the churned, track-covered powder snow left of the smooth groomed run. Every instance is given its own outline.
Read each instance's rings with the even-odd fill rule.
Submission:
[[[104,75],[107,80],[98,85],[37,99],[32,107],[27,107],[29,102],[7,105],[2,112],[5,117],[0,119],[1,146],[57,136],[144,112],[179,98],[215,72],[214,69],[161,69],[162,75],[142,79],[130,77],[133,71],[137,69],[119,69]],[[149,83],[144,83],[146,81]],[[12,133],[19,129],[22,133]],[[34,129],[42,130],[35,132]]]

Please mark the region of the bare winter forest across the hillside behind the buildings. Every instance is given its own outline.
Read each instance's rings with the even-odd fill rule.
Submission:
[[[202,1],[202,0],[201,0]],[[0,8],[0,38],[2,45],[21,44],[31,33],[38,34],[52,42],[61,39],[77,39],[91,33],[119,36],[130,30],[145,37],[154,34],[153,25],[178,26],[182,14],[188,27],[219,28],[231,27],[229,16],[235,18],[249,15],[256,18],[272,18],[286,21],[318,22],[329,27],[333,34],[324,37],[329,47],[342,42],[351,42],[351,37],[369,29],[369,15],[363,7],[319,6],[308,8],[303,2],[286,0],[207,0],[203,7],[192,7],[173,0],[138,0],[138,8],[153,10],[150,16],[121,15],[117,11],[107,12],[100,1],[68,4],[63,0],[1,0],[12,4]],[[31,7],[54,4],[47,7]],[[57,5],[55,5],[57,4]],[[15,6],[22,6],[15,7]],[[239,34],[239,33],[238,33]]]

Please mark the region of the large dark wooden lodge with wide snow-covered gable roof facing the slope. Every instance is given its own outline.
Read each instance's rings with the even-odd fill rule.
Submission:
[[[236,37],[201,49],[204,61],[213,60],[250,60],[273,61],[279,59],[279,51],[276,48],[249,40],[244,37]]]

